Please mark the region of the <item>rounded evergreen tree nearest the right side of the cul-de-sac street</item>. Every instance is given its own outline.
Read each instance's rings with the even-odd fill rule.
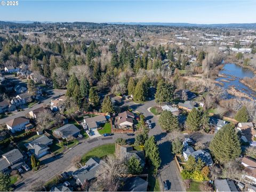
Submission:
[[[179,129],[178,118],[172,114],[171,111],[162,111],[159,117],[159,124],[163,130],[172,132],[173,130]]]

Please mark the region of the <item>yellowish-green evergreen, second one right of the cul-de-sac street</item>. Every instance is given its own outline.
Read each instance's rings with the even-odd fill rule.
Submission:
[[[201,125],[201,113],[196,108],[193,108],[187,117],[186,126],[190,131],[198,131]]]

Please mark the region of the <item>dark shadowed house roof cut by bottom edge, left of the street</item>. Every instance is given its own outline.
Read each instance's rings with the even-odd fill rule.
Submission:
[[[125,180],[122,191],[147,191],[148,181],[136,176]]]

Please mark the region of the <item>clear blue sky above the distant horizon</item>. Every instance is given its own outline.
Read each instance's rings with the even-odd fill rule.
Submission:
[[[1,0],[0,0],[1,1]],[[2,21],[256,22],[256,1],[25,1],[1,6]]]

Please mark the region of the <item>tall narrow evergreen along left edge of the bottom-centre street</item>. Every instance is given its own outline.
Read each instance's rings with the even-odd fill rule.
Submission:
[[[161,158],[159,156],[159,149],[156,145],[154,136],[151,136],[146,140],[144,150],[145,150],[146,157],[149,159],[150,163],[157,170],[158,167],[161,165]]]

